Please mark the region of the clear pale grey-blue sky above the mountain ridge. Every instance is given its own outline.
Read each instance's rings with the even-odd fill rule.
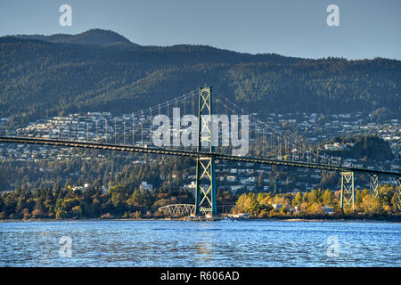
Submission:
[[[72,7],[72,27],[59,7]],[[326,24],[329,4],[340,27]],[[0,36],[118,32],[140,45],[212,45],[242,53],[401,60],[399,0],[2,0]]]

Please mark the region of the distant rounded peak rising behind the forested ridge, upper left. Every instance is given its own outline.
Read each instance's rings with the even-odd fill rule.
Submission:
[[[76,44],[76,45],[137,45],[131,43],[126,37],[122,37],[111,30],[100,28],[89,29],[77,35],[55,34],[43,35],[17,35],[22,39],[39,39],[49,43]]]

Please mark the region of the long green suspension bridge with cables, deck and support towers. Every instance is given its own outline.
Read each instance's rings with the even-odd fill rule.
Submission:
[[[198,98],[196,98],[198,97]],[[196,103],[197,102],[197,103]],[[198,109],[197,116],[195,107]],[[181,113],[182,112],[182,113]],[[235,154],[233,145],[226,140],[224,130],[230,129],[228,122],[221,120],[221,128],[213,118],[214,115],[224,114],[239,118],[247,115],[241,107],[231,102],[223,95],[212,95],[212,88],[201,87],[198,91],[192,90],[188,94],[176,97],[168,102],[160,103],[146,110],[135,111],[121,118],[102,118],[91,121],[68,118],[61,121],[58,127],[46,130],[45,126],[26,127],[17,130],[17,135],[0,136],[0,143],[26,143],[70,148],[86,148],[107,151],[128,151],[156,154],[162,156],[190,157],[196,162],[196,191],[194,205],[168,205],[160,208],[161,212],[170,214],[217,215],[217,186],[216,161],[237,161],[244,163],[258,163],[283,167],[314,168],[329,171],[339,171],[341,175],[340,208],[355,206],[355,174],[370,176],[370,194],[380,196],[379,176],[394,177],[396,183],[395,211],[401,208],[401,173],[382,170],[352,167],[341,164],[340,159],[329,157],[319,151],[300,135],[283,134],[274,130],[274,123],[265,122],[255,114],[251,114],[249,151],[246,154]],[[155,115],[165,115],[173,122],[172,131],[159,131],[160,137],[167,142],[175,142],[176,138],[185,133],[181,129],[181,115],[192,115],[197,118],[198,126],[191,126],[195,130],[187,136],[192,141],[189,145],[175,143],[155,146],[152,137],[158,133],[154,126]],[[241,115],[241,116],[240,116]],[[94,113],[95,117],[96,114]],[[176,117],[175,117],[176,116]],[[177,118],[178,116],[178,118]],[[217,117],[218,118],[218,117]],[[166,124],[166,122],[163,123]],[[169,121],[167,123],[169,125]],[[233,130],[233,122],[232,122]],[[242,125],[241,125],[242,126]],[[61,130],[62,128],[62,130]],[[190,127],[188,126],[188,129]],[[47,134],[46,134],[47,131]],[[245,130],[238,130],[243,137]],[[171,140],[170,140],[171,139]],[[233,139],[233,137],[232,137]],[[129,141],[132,144],[129,144]],[[216,144],[214,142],[222,142]],[[193,143],[195,142],[195,143]],[[247,143],[248,143],[247,142]]]

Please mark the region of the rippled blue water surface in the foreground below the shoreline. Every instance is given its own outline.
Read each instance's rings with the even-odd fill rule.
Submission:
[[[71,257],[59,252],[63,236]],[[401,224],[392,223],[0,223],[0,266],[400,265]]]

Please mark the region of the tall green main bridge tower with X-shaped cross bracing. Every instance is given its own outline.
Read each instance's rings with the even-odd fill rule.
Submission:
[[[212,145],[212,88],[201,87],[199,90],[198,110],[198,151],[208,148],[213,152]],[[212,156],[196,159],[196,195],[195,215],[217,215],[215,158]]]

